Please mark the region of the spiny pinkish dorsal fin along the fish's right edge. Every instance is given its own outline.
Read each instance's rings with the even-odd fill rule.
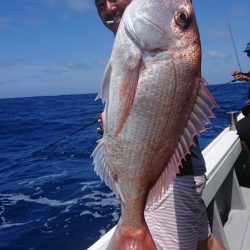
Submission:
[[[176,178],[176,174],[179,173],[179,166],[182,166],[182,160],[185,160],[186,155],[190,154],[189,148],[195,144],[194,136],[198,136],[201,131],[205,130],[205,124],[210,122],[209,118],[215,117],[212,112],[214,107],[218,107],[218,105],[204,85],[204,80],[201,79],[199,94],[189,120],[172,157],[149,192],[147,207],[162,199],[169,185]]]

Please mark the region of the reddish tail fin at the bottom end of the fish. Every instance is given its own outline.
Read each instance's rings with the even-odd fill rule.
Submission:
[[[148,226],[145,223],[139,228],[131,228],[118,224],[109,242],[107,250],[156,250]]]

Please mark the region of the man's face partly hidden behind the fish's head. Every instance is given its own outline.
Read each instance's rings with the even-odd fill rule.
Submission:
[[[95,0],[103,24],[114,34],[117,32],[122,14],[132,0]]]

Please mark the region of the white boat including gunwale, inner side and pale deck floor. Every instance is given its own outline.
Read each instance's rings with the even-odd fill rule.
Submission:
[[[248,188],[240,187],[235,172],[235,168],[243,166],[239,161],[241,151],[236,131],[229,128],[203,151],[208,177],[203,199],[212,232],[228,250],[250,249],[250,178]],[[106,249],[114,230],[115,227],[88,250]]]

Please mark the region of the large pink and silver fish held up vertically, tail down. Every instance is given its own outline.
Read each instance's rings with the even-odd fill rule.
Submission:
[[[104,135],[95,171],[119,196],[108,249],[156,249],[144,208],[158,202],[216,105],[201,77],[190,0],[133,0],[101,87]]]

